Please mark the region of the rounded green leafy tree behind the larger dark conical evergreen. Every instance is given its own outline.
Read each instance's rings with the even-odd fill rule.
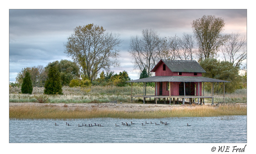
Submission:
[[[48,72],[49,67],[54,65],[56,65],[60,71],[62,86],[68,86],[71,80],[80,78],[80,68],[75,62],[66,59],[62,59],[61,61],[54,61],[49,63],[45,67],[45,70]]]

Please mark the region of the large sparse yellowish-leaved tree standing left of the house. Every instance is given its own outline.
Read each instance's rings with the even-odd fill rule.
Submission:
[[[119,35],[105,32],[102,26],[87,24],[78,26],[65,44],[65,53],[81,66],[82,73],[90,81],[99,70],[119,66]]]

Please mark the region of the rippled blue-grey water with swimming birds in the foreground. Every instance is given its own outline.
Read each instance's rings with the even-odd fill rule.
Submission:
[[[160,120],[169,125],[160,124]],[[131,121],[135,124],[131,125]],[[55,122],[58,126],[55,126]],[[66,122],[71,126],[67,126]],[[131,126],[123,126],[127,122]],[[156,122],[160,125],[145,124]],[[78,127],[78,124],[104,127]],[[187,126],[187,123],[191,126]],[[119,125],[118,127],[115,124]],[[9,142],[246,143],[247,116],[163,119],[9,120]]]

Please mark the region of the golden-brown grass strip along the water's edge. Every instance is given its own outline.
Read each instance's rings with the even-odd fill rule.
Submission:
[[[199,108],[183,108],[174,110],[156,111],[115,111],[98,110],[93,108],[86,110],[76,108],[55,108],[49,105],[43,107],[36,106],[11,106],[9,107],[10,119],[87,119],[87,118],[126,118],[126,119],[145,119],[145,118],[165,118],[165,117],[208,117],[208,116],[234,116],[247,115],[247,108],[239,105],[227,106],[201,106]]]

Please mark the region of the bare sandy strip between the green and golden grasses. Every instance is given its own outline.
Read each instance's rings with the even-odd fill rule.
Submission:
[[[64,106],[65,105],[65,106]],[[208,104],[206,104],[208,105]],[[209,104],[210,105],[210,104]],[[246,104],[237,104],[237,105],[245,105]],[[135,104],[135,103],[122,103],[122,104],[114,104],[114,103],[78,103],[78,104],[65,104],[65,103],[12,103],[9,102],[9,107],[15,106],[41,106],[41,107],[55,107],[55,108],[68,108],[68,109],[76,109],[81,108],[84,110],[90,110],[96,108],[98,110],[117,110],[117,111],[154,111],[154,110],[173,110],[173,109],[183,109],[183,108],[201,108],[201,105],[169,105],[169,104]]]

